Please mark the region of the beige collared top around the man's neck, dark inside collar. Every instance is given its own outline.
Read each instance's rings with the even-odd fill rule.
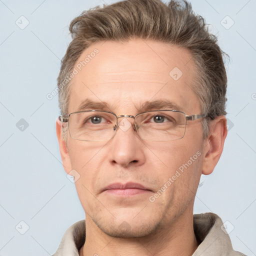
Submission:
[[[233,250],[229,235],[218,215],[211,212],[194,214],[193,228],[199,245],[192,256],[245,256]],[[79,256],[79,249],[84,241],[85,221],[80,220],[65,231],[52,256]]]

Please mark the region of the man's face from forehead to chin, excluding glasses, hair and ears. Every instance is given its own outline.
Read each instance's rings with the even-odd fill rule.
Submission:
[[[135,115],[143,103],[163,100],[188,115],[201,113],[191,89],[195,68],[188,50],[152,40],[98,42],[82,53],[76,66],[95,48],[98,53],[84,67],[78,65],[81,70],[76,67],[68,113],[88,100],[107,103],[102,110],[116,115]],[[126,117],[123,123],[133,120]],[[132,127],[119,127],[109,141],[80,141],[68,134],[70,164],[64,165],[80,175],[75,185],[86,225],[95,223],[112,236],[138,237],[192,214],[203,143],[200,119],[188,121],[184,137],[172,141],[141,140]],[[105,190],[113,183],[128,182],[145,189]]]

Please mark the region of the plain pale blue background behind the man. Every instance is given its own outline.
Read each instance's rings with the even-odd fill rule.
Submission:
[[[84,218],[75,186],[61,165],[55,135],[57,96],[48,100],[46,94],[56,87],[60,59],[70,41],[69,22],[102,3],[0,0],[1,256],[52,254],[65,229]],[[214,172],[202,177],[194,212],[212,211],[228,220],[234,226],[234,249],[256,255],[256,1],[191,3],[212,24],[231,59],[226,63],[229,132]],[[15,24],[21,15],[29,21],[24,29]],[[220,23],[226,15],[234,21],[229,29]],[[16,127],[21,118],[29,124],[24,131]],[[23,235],[15,229],[21,220],[29,226]]]

